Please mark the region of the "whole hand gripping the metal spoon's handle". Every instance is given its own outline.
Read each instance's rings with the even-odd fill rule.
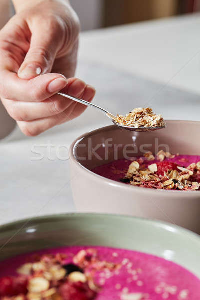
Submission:
[[[85,110],[56,92],[91,101],[95,89],[69,78],[76,68],[79,22],[68,1],[15,2],[16,15],[0,31],[0,96],[22,132],[34,136]]]

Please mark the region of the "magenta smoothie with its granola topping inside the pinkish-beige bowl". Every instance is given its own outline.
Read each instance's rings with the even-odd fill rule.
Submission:
[[[143,156],[98,166],[93,172],[137,187],[200,191],[200,155],[147,151]]]

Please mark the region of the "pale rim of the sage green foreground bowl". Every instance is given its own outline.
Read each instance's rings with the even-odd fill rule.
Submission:
[[[63,219],[73,219],[73,218],[90,218],[90,217],[103,217],[103,218],[115,218],[115,219],[129,219],[129,220],[133,220],[136,222],[142,222],[144,224],[146,224],[147,226],[150,224],[152,226],[161,228],[163,230],[167,230],[167,231],[174,231],[174,229],[176,230],[176,233],[181,234],[182,236],[185,236],[185,238],[189,237],[189,239],[196,241],[199,244],[200,247],[200,235],[198,235],[197,233],[183,228],[181,226],[178,226],[174,223],[169,223],[166,221],[161,221],[158,219],[151,219],[151,218],[145,218],[145,217],[138,217],[138,216],[131,216],[131,215],[125,215],[125,214],[116,214],[116,213],[96,213],[96,212],[92,212],[92,213],[88,213],[88,212],[69,212],[69,213],[60,213],[60,214],[48,214],[48,215],[40,215],[40,216],[34,216],[34,217],[29,217],[29,218],[22,218],[22,219],[18,219],[12,222],[7,222],[4,224],[0,225],[0,234],[1,233],[5,233],[6,231],[9,230],[15,230],[17,229],[17,234],[20,232],[20,230],[23,230],[24,228],[26,228],[26,225],[28,227],[28,223],[30,223],[30,225],[32,226],[33,223],[45,223],[45,222],[49,222],[49,221],[60,221]],[[16,228],[17,225],[22,224],[22,227],[20,229]],[[35,224],[34,224],[35,225]]]

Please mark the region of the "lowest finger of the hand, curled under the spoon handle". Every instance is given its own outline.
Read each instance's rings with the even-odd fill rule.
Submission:
[[[72,86],[72,89],[73,88],[74,88],[74,86]],[[95,89],[86,84],[84,86],[84,89],[81,91],[81,94],[77,94],[76,93],[77,90],[76,90],[76,92],[75,92],[75,90],[73,92],[74,92],[73,94],[71,92],[70,92],[70,94],[73,96],[76,96],[76,97],[81,97],[83,100],[86,100],[86,101],[91,101],[95,95]],[[35,136],[55,125],[61,124],[63,122],[66,122],[66,121],[78,116],[85,109],[86,109],[85,105],[79,104],[79,103],[74,103],[73,101],[71,101],[71,104],[63,112],[61,112],[59,114],[49,116],[49,117],[44,117],[41,119],[29,121],[29,122],[18,121],[17,123],[18,123],[21,131],[25,135]]]

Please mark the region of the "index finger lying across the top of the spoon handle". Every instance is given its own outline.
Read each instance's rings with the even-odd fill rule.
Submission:
[[[23,80],[13,72],[0,72],[0,96],[10,100],[40,102],[63,89],[66,84],[66,78],[60,74],[45,74]]]

